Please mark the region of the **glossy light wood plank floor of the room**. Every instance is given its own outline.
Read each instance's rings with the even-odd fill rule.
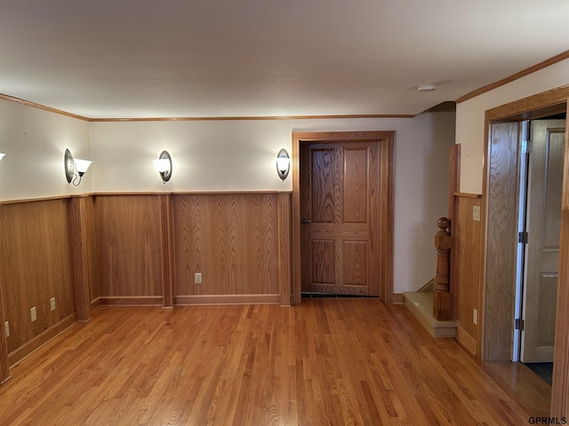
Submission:
[[[550,388],[405,306],[100,307],[12,367],[4,425],[526,425]]]

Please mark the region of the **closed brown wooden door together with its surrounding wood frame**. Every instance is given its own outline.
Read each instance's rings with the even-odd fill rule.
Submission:
[[[391,303],[394,140],[394,131],[293,133],[293,304],[303,290]]]

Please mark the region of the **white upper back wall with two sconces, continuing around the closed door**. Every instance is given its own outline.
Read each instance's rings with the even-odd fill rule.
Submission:
[[[92,122],[93,191],[291,191],[276,176],[276,153],[293,131],[396,130],[395,282],[401,293],[435,275],[437,218],[447,214],[454,114],[415,118],[204,122]],[[152,161],[172,154],[163,184]]]

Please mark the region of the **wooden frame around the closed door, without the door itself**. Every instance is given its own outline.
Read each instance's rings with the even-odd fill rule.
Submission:
[[[292,304],[301,303],[301,144],[309,143],[378,142],[380,164],[380,296],[386,304],[393,303],[393,225],[395,130],[293,132],[293,205],[292,205]]]

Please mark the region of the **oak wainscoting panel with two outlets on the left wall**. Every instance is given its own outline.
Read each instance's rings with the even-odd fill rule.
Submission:
[[[0,224],[0,283],[4,320],[10,325],[10,354],[75,316],[68,200],[3,205]],[[52,297],[54,311],[50,309]],[[32,322],[30,309],[34,306],[36,320]]]

